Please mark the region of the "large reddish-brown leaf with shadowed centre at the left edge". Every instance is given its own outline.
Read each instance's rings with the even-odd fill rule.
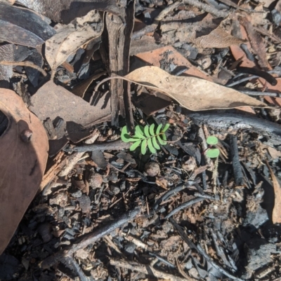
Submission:
[[[0,254],[30,205],[46,167],[48,138],[43,125],[12,90],[0,89],[8,126],[0,137]]]

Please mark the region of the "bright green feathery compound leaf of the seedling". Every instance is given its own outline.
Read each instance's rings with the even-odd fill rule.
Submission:
[[[123,142],[133,142],[130,147],[130,151],[134,151],[141,146],[141,153],[144,155],[149,149],[150,153],[156,153],[157,150],[160,149],[160,145],[166,145],[166,130],[169,129],[169,124],[157,125],[155,128],[155,124],[145,125],[145,127],[141,125],[136,125],[135,135],[129,135],[126,126],[122,128],[121,131],[121,139]],[[156,130],[155,130],[156,129]]]

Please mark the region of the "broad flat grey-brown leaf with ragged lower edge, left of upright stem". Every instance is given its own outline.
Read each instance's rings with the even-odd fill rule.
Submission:
[[[110,120],[110,101],[106,96],[97,98],[97,103],[91,106],[81,97],[73,95],[65,88],[55,85],[53,81],[45,83],[31,98],[30,110],[44,121],[46,118],[63,118],[82,126]],[[66,124],[65,124],[66,125]]]

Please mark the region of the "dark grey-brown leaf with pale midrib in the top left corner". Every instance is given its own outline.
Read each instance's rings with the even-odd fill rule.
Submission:
[[[55,34],[41,17],[26,8],[0,2],[0,40],[36,48]]]

